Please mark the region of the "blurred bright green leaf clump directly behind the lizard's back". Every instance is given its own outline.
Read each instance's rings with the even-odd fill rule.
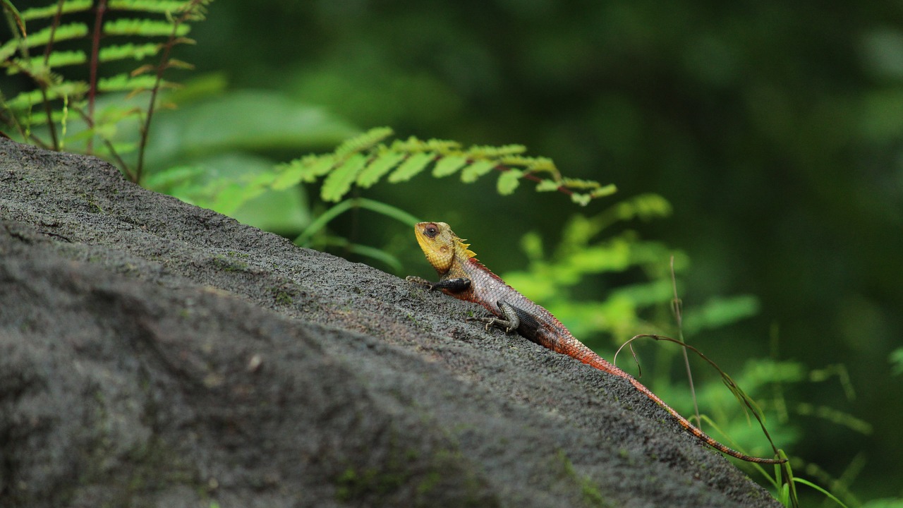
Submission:
[[[623,342],[638,330],[648,329],[642,317],[644,310],[670,300],[666,259],[672,251],[660,242],[640,240],[634,231],[609,229],[620,221],[650,220],[666,217],[670,212],[670,205],[661,196],[641,194],[592,217],[575,215],[564,225],[560,243],[551,256],[546,256],[538,234],[527,233],[521,246],[529,266],[525,271],[505,273],[503,278],[548,308],[584,342],[596,334],[610,334]],[[685,255],[679,251],[673,254],[676,268],[684,268]],[[605,276],[634,269],[645,274],[647,280],[599,287]],[[587,285],[607,296],[600,300],[587,298],[580,292]]]

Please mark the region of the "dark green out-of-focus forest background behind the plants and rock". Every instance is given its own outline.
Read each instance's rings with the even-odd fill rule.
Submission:
[[[685,308],[758,299],[755,315],[687,340],[731,373],[750,358],[801,362],[812,382],[783,394],[796,474],[829,489],[839,479],[852,506],[903,496],[903,374],[891,362],[903,347],[903,4],[219,1],[191,37],[177,56],[197,66],[183,79],[200,99],[161,115],[152,136],[169,147],[152,150],[153,165],[247,170],[390,126],[524,144],[567,176],[618,185],[586,209],[529,184],[501,197],[492,180],[425,174],[361,194],[450,222],[501,274],[526,268],[527,232],[551,250],[573,214],[658,193],[672,214],[629,228],[687,255]],[[198,139],[224,122],[241,132]],[[283,137],[256,139],[267,129]],[[326,208],[317,186],[280,199],[302,206],[243,213],[296,235]],[[330,228],[432,277],[395,221],[360,212]],[[618,282],[591,279],[586,292]]]

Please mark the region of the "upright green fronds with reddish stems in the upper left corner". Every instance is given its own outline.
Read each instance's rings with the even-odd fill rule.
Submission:
[[[176,86],[163,80],[163,72],[191,69],[191,64],[170,53],[178,44],[193,43],[185,36],[192,22],[203,19],[209,2],[111,0],[101,15],[108,10],[138,17],[110,21],[98,15],[92,22],[95,25],[89,25],[69,19],[71,14],[93,8],[92,0],[61,0],[21,12],[5,0],[3,8],[13,37],[0,46],[0,67],[8,75],[27,76],[33,84],[33,89],[14,97],[0,95],[0,122],[10,130],[8,136],[53,150],[65,147],[88,154],[95,153],[94,142],[99,140],[97,154],[114,161],[133,181],[140,181],[151,119],[154,109],[161,106],[158,92]],[[33,29],[33,24],[40,28]],[[124,38],[129,41],[123,42]],[[32,50],[40,50],[42,56],[32,56]],[[131,72],[103,75],[107,68],[100,67],[112,61],[150,58],[156,61]],[[88,81],[69,80],[61,73],[79,66],[88,66]],[[96,108],[101,95],[122,93],[131,98],[142,92],[149,95],[143,105],[127,110],[115,103],[107,109]],[[137,126],[136,141],[116,142],[116,132],[128,121]],[[131,151],[137,151],[134,166],[123,158]]]

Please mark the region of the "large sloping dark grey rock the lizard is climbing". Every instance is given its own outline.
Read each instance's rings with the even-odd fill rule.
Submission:
[[[0,506],[779,506],[471,310],[0,139]]]

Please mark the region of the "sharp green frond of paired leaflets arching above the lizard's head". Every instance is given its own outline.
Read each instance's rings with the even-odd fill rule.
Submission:
[[[368,188],[386,175],[389,183],[406,182],[433,168],[433,177],[461,173],[461,182],[473,183],[493,170],[500,172],[498,193],[514,193],[522,179],[535,181],[537,191],[559,191],[582,205],[615,192],[614,185],[563,177],[551,159],[524,155],[526,147],[470,146],[441,139],[421,140],[411,136],[383,141],[392,136],[387,127],[377,127],[351,138],[331,154],[306,155],[281,167],[278,185],[312,183],[325,176],[321,198],[338,202],[352,187]]]

